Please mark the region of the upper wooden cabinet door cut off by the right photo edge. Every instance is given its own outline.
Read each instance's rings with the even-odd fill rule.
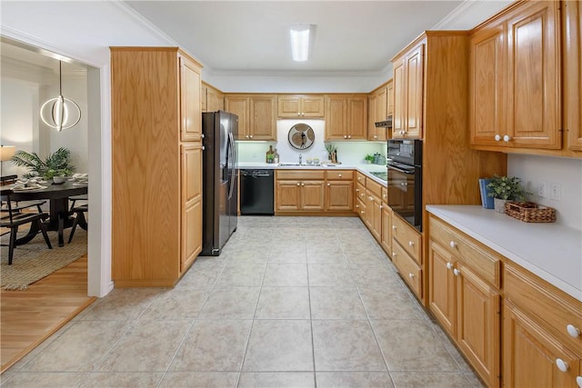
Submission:
[[[582,5],[579,1],[564,4],[564,97],[567,147],[582,151]],[[577,154],[582,156],[582,154]]]

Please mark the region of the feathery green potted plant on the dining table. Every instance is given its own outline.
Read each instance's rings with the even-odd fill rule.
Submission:
[[[64,178],[75,172],[75,166],[71,164],[71,151],[61,147],[53,154],[41,159],[36,153],[17,151],[12,158],[14,164],[28,168],[25,178],[40,176],[45,180],[53,179],[55,183],[63,183]],[[60,178],[60,179],[59,179]]]

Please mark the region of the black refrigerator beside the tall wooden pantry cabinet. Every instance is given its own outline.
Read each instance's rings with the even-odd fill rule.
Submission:
[[[202,253],[218,256],[236,231],[238,174],[236,145],[238,116],[217,111],[202,114]]]

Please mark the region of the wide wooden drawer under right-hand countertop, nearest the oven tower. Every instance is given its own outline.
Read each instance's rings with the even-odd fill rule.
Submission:
[[[471,237],[431,216],[430,239],[447,249],[457,260],[475,271],[489,284],[501,287],[501,261]]]

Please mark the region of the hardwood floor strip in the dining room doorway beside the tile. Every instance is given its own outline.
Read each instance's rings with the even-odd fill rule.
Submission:
[[[87,256],[25,291],[3,290],[0,298],[0,373],[4,373],[95,301],[87,296]]]

